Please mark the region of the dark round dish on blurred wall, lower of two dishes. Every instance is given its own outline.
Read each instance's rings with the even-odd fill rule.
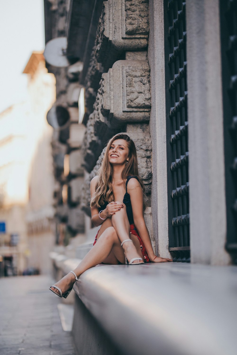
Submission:
[[[63,130],[68,125],[70,115],[63,106],[53,105],[47,113],[47,121],[50,126],[57,130]]]

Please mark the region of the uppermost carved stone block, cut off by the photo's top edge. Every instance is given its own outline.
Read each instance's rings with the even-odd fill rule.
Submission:
[[[124,50],[147,47],[149,0],[108,0],[103,3],[96,36],[96,58],[103,66]]]

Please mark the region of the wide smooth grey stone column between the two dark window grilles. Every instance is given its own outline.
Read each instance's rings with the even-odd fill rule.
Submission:
[[[191,262],[225,265],[219,1],[188,0],[186,6]]]

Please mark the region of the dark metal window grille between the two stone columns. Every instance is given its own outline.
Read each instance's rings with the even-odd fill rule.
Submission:
[[[169,251],[190,262],[185,2],[165,6]]]

